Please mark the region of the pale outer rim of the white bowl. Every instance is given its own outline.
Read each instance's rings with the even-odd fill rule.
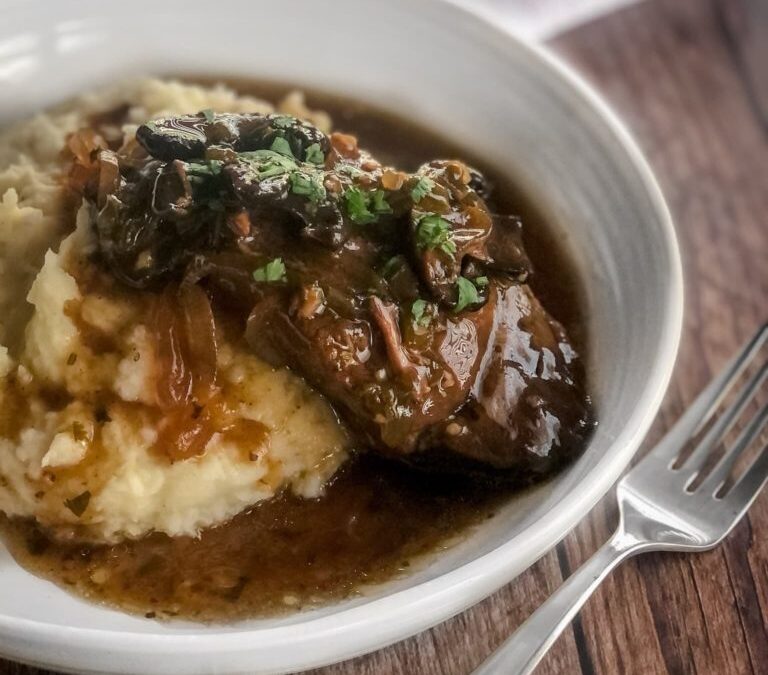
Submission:
[[[414,6],[409,0],[390,0]],[[566,494],[555,512],[542,514],[523,532],[460,567],[413,587],[395,591],[333,614],[290,625],[226,632],[201,625],[197,633],[152,634],[61,626],[0,614],[0,645],[10,658],[39,665],[89,672],[89,655],[108,659],[107,672],[217,672],[253,668],[253,657],[266,656],[266,670],[286,672],[328,665],[383,648],[441,623],[480,602],[510,582],[557,544],[610,490],[628,465],[653,422],[672,375],[682,332],[683,273],[680,250],[669,209],[638,144],[612,108],[570,65],[548,47],[517,36],[509,27],[456,4],[457,0],[421,0],[424,16],[452,12],[451,21],[484,32],[503,51],[510,41],[557,75],[564,87],[595,113],[637,173],[661,225],[669,255],[664,321],[657,356],[648,371],[638,405],[621,434],[589,471],[582,489]],[[13,3],[10,3],[11,5]],[[31,4],[31,3],[30,3]],[[8,9],[9,7],[0,7]],[[544,522],[546,521],[546,522]],[[524,549],[526,553],[520,554]],[[513,553],[514,551],[514,553]],[[8,646],[13,645],[12,649]],[[42,649],[50,658],[44,658]],[[207,658],[200,658],[205,656]],[[163,659],[168,659],[163,667]],[[159,670],[156,670],[158,669]],[[93,672],[93,671],[91,671]],[[104,672],[99,667],[99,672]]]

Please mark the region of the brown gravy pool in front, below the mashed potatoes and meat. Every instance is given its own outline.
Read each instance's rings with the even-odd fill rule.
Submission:
[[[26,523],[4,526],[27,569],[90,600],[150,617],[232,621],[322,604],[406,573],[500,496],[365,457],[321,499],[284,494],[199,539],[62,545]]]

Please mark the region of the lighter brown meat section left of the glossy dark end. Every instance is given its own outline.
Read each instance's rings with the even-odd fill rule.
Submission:
[[[257,354],[302,373],[369,445],[390,456],[417,448],[420,434],[459,409],[486,351],[493,308],[436,316],[426,332],[376,296],[360,318],[326,305],[305,317],[270,294],[254,306],[246,337]]]

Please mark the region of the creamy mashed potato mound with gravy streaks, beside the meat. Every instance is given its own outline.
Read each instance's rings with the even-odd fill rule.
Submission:
[[[300,378],[223,343],[222,396],[239,420],[263,425],[265,438],[254,448],[216,433],[202,454],[176,461],[154,447],[157,369],[146,317],[125,299],[83,296],[70,274],[93,246],[87,206],[62,241],[72,231],[62,215],[67,136],[89,115],[124,104],[126,135],[161,115],[274,109],[223,86],[145,79],[0,133],[0,511],[107,542],[194,535],[283,489],[317,497],[348,445],[328,403]],[[300,94],[278,109],[330,127]],[[83,325],[113,336],[114,346],[94,350]],[[110,403],[99,413],[94,400],[104,392]]]

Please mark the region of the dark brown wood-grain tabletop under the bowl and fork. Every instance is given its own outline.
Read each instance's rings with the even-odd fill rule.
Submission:
[[[552,46],[634,131],[678,228],[683,341],[647,449],[768,317],[768,0],[646,0]],[[478,606],[314,675],[469,673],[615,525],[607,497]],[[41,673],[2,661],[0,672]],[[718,549],[648,554],[619,568],[538,673],[768,673],[768,493]]]

